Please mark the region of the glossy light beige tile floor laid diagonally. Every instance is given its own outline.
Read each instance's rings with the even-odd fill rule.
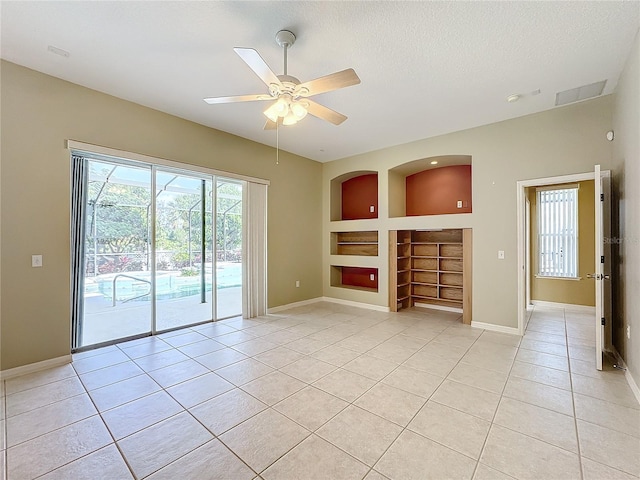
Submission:
[[[0,471],[44,479],[632,479],[640,405],[593,320],[524,338],[318,303],[0,382]]]

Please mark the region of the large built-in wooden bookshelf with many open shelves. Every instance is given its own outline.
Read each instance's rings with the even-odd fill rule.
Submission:
[[[461,311],[471,323],[471,229],[389,232],[389,306]]]

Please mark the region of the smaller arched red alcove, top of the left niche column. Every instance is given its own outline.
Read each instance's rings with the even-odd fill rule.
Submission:
[[[331,221],[378,218],[378,173],[362,170],[331,180]]]

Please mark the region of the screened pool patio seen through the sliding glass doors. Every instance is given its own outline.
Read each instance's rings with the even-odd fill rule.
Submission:
[[[244,182],[79,157],[82,298],[74,348],[242,314]]]

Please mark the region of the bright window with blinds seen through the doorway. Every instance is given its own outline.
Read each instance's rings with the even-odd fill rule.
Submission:
[[[578,276],[578,187],[538,189],[538,275]]]

